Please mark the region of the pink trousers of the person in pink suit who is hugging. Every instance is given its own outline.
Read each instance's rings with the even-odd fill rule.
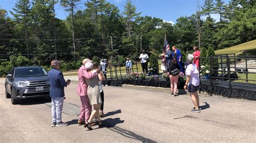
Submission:
[[[89,104],[88,96],[80,96],[80,100],[82,102],[79,120],[80,121],[88,121],[91,116],[92,106]]]

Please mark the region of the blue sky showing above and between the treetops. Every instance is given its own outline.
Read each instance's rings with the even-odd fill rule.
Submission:
[[[79,5],[79,9],[85,9],[84,2]],[[106,0],[111,4],[118,6],[119,10],[123,12],[126,0]],[[141,16],[151,16],[161,18],[167,22],[176,23],[176,19],[181,16],[191,16],[192,13],[196,12],[197,0],[131,0],[136,6],[138,12],[142,12]],[[225,3],[228,0],[224,0]],[[12,10],[16,0],[0,0],[0,8],[5,10]],[[199,0],[199,5],[203,6],[204,0]],[[62,8],[57,5],[57,18],[65,19],[68,15]],[[10,13],[9,13],[9,16]],[[217,15],[212,15],[213,18],[218,20]]]

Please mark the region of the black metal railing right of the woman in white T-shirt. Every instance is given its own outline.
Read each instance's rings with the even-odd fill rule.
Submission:
[[[201,65],[205,61],[208,65]],[[200,76],[203,83],[256,91],[256,56],[215,55],[210,58],[200,58],[199,64],[200,73],[209,71],[209,78]]]

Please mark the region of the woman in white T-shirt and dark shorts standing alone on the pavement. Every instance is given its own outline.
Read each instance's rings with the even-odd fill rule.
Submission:
[[[194,104],[194,108],[191,110],[191,112],[200,112],[199,97],[197,94],[200,83],[199,71],[197,66],[193,63],[193,58],[191,55],[187,56],[187,62],[190,63],[190,65],[188,65],[186,68],[187,80],[184,85],[184,90],[187,89],[188,92],[190,92],[190,96]]]

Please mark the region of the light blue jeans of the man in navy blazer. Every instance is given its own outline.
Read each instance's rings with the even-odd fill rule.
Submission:
[[[51,116],[52,123],[60,123],[62,121],[62,108],[64,97],[51,98]]]

